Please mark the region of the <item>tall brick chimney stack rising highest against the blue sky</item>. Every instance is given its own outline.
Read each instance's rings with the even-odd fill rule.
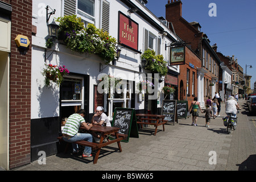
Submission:
[[[168,0],[166,5],[166,19],[168,22],[174,22],[175,19],[182,16],[182,2],[180,0]]]

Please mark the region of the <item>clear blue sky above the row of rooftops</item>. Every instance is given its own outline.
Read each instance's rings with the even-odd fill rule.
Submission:
[[[166,16],[168,0],[148,0],[146,7],[157,17]],[[182,16],[188,22],[199,22],[210,45],[225,56],[234,55],[247,75],[251,88],[256,81],[256,1],[255,0],[181,0]],[[217,16],[209,16],[210,3],[216,4]],[[178,34],[179,35],[179,34]]]

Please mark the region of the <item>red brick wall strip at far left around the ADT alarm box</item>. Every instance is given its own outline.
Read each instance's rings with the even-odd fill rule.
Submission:
[[[4,1],[12,5],[10,53],[10,168],[30,163],[31,44],[22,55],[14,39],[31,40],[32,0]]]

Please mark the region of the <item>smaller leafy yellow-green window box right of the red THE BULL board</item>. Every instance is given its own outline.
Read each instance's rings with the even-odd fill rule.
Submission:
[[[159,73],[160,76],[166,76],[168,72],[167,62],[164,61],[163,55],[155,55],[155,51],[147,49],[142,54],[142,59],[147,60],[145,69],[150,70],[153,73]]]

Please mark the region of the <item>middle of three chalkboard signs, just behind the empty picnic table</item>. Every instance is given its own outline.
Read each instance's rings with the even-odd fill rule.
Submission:
[[[162,115],[166,116],[164,120],[168,122],[177,122],[176,100],[163,100]]]

